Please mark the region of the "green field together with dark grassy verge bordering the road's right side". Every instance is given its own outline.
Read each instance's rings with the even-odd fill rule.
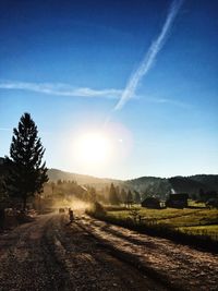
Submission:
[[[171,239],[177,242],[218,252],[218,209],[105,207],[106,214],[87,213],[98,219],[142,233]],[[137,213],[133,217],[132,210]]]

